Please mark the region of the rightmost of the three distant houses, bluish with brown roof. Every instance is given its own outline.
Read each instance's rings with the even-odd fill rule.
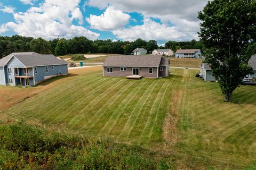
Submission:
[[[176,58],[200,58],[200,49],[178,49],[175,53]]]

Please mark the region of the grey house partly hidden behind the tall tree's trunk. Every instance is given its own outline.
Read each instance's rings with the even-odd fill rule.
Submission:
[[[200,69],[200,75],[204,81],[216,81],[214,75],[212,74],[212,69],[209,64],[203,63],[204,57],[202,57],[202,64]],[[252,67],[253,71],[251,74],[245,76],[244,81],[251,81],[253,78],[256,78],[256,55],[253,55],[248,64]]]

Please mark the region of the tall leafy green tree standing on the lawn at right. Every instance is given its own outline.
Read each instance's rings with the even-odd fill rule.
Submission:
[[[198,13],[202,20],[199,37],[206,62],[217,78],[225,101],[251,72],[247,64],[256,40],[256,0],[213,0]]]

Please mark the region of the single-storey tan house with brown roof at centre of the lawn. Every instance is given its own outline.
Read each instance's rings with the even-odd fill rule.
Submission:
[[[162,55],[125,55],[109,56],[103,63],[105,77],[168,77],[170,60]]]

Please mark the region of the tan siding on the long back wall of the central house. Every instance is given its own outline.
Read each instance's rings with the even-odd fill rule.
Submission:
[[[132,68],[139,68],[140,76],[146,78],[157,78],[157,67],[126,67],[126,71],[120,71],[120,67],[113,67],[113,73],[107,73],[107,67],[104,66],[103,72],[105,77],[127,77],[132,75]],[[153,74],[149,74],[148,68],[153,68]]]

